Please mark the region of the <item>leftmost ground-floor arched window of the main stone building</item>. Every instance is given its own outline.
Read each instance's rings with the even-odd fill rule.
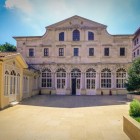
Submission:
[[[52,73],[50,69],[42,71],[42,87],[52,87]]]

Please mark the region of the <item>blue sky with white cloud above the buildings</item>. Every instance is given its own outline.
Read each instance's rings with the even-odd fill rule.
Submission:
[[[13,36],[42,36],[45,27],[74,15],[107,25],[112,34],[140,27],[140,0],[0,0],[0,44]]]

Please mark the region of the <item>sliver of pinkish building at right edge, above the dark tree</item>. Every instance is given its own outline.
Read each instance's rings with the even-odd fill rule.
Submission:
[[[140,28],[134,33],[132,53],[133,59],[140,57]]]

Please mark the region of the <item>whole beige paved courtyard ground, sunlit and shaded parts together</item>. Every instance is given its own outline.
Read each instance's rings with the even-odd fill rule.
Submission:
[[[0,140],[129,140],[126,96],[35,96],[0,111]]]

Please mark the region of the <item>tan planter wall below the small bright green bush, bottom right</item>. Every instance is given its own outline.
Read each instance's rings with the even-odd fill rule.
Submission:
[[[131,140],[140,140],[140,123],[130,116],[123,116],[123,131]]]

